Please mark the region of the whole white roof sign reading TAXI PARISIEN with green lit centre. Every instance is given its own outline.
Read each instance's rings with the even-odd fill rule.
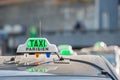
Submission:
[[[17,48],[17,53],[34,53],[34,52],[58,52],[57,46],[50,44],[46,38],[29,38],[25,44]]]

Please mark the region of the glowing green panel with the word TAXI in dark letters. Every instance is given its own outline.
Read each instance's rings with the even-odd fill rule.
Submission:
[[[32,38],[27,41],[27,48],[47,48],[48,43],[45,39]]]

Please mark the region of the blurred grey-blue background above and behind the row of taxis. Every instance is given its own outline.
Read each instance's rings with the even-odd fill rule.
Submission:
[[[29,37],[74,49],[97,41],[120,46],[120,0],[0,0],[0,55]]]

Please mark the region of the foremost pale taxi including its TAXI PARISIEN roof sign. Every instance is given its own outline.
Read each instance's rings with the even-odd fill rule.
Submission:
[[[12,56],[6,63],[2,60],[0,80],[120,80],[113,66],[101,56],[62,56],[56,45],[45,38],[28,39],[17,48],[17,53],[33,52],[41,55],[21,55],[15,59]],[[3,56],[2,59],[10,57]]]

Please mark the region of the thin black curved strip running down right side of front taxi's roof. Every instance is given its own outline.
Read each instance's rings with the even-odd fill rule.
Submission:
[[[98,66],[98,65],[96,65],[94,63],[91,63],[91,62],[88,62],[88,61],[83,61],[83,60],[70,59],[70,58],[64,58],[64,59],[69,59],[70,61],[73,61],[73,62],[80,62],[80,63],[91,65],[91,66],[99,69],[101,71],[101,74],[108,75],[112,80],[118,80],[112,74],[110,74],[108,71],[106,71],[105,69],[103,69],[102,67],[100,67],[100,66]]]

